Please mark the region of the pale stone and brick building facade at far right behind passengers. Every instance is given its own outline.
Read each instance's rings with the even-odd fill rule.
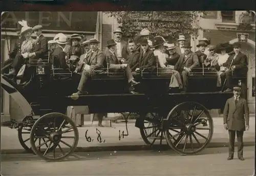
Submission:
[[[250,113],[255,113],[255,11],[206,11],[199,20],[199,39],[210,38],[212,45],[222,42],[242,43],[242,52],[248,58],[247,101]],[[197,41],[198,42],[198,41]],[[194,48],[196,48],[196,43]]]

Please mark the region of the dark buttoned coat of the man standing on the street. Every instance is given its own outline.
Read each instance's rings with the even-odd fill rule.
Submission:
[[[249,109],[244,98],[239,98],[237,105],[234,97],[226,101],[223,111],[224,123],[229,130],[244,131],[245,124],[249,125]]]

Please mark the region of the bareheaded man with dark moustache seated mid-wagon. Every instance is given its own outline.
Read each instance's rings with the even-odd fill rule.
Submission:
[[[140,52],[136,50],[136,43],[134,40],[129,40],[128,46],[129,46],[130,54],[127,56],[127,60],[124,61],[123,63],[129,63],[131,70],[135,71],[135,69],[139,65]]]

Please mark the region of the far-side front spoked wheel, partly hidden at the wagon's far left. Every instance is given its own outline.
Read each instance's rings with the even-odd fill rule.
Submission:
[[[30,121],[30,122],[28,122]],[[18,140],[19,140],[19,143],[20,145],[23,146],[23,148],[28,152],[28,153],[33,153],[33,150],[30,146],[30,132],[31,132],[31,129],[32,129],[32,126],[33,126],[33,121],[35,121],[35,119],[33,119],[32,117],[25,117],[23,119],[23,122],[27,124],[26,125],[21,125],[19,128],[18,128]],[[35,138],[35,143],[40,145],[41,143],[43,142],[46,142],[44,138]],[[54,149],[54,147],[56,147],[57,145],[52,145],[50,148],[49,148],[49,151],[52,151]],[[47,144],[43,145],[40,147],[40,149],[42,151],[46,150],[46,148],[48,147]]]

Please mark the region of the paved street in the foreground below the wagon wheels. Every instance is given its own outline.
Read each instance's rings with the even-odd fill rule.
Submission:
[[[236,148],[237,149],[237,148]],[[2,155],[2,175],[252,175],[254,147],[244,161],[227,161],[227,148],[207,148],[196,156],[174,151],[77,152],[69,161],[47,163],[31,154]]]

